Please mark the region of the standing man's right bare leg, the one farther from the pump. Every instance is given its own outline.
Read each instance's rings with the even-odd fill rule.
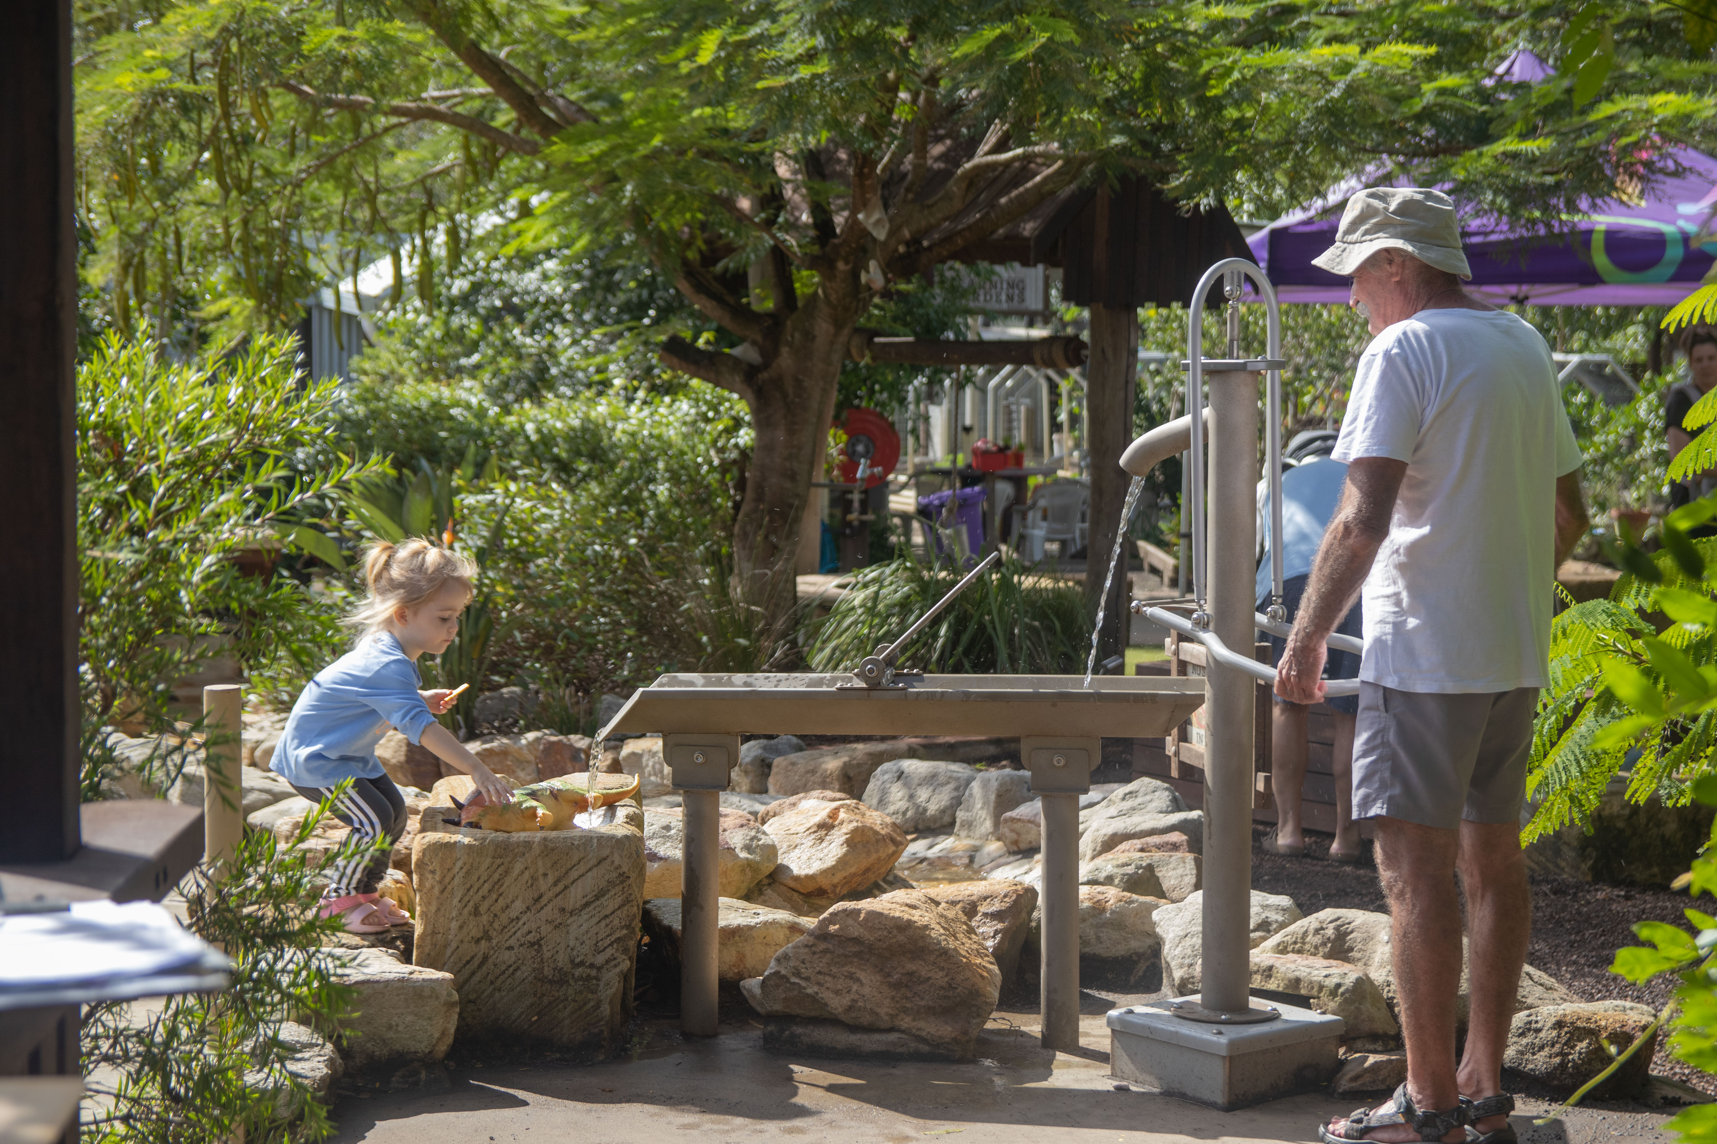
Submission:
[[[1526,885],[1520,827],[1511,822],[1463,822],[1459,837],[1471,1010],[1456,1081],[1461,1096],[1482,1099],[1502,1091],[1502,1051],[1532,935],[1532,888]],[[1496,1132],[1506,1123],[1508,1117],[1485,1117],[1473,1127]]]

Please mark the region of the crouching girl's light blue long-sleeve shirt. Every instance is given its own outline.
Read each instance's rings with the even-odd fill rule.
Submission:
[[[434,722],[421,686],[417,664],[391,633],[367,636],[304,688],[270,767],[300,787],[374,779],[381,774],[376,744],[390,727],[417,743]]]

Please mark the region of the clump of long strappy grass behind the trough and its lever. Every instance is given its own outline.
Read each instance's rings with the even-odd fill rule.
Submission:
[[[960,575],[910,556],[853,573],[852,585],[812,628],[805,657],[816,671],[852,671],[877,645],[905,635]],[[901,648],[901,667],[956,674],[1083,671],[1090,621],[1077,588],[1003,559],[970,583]]]

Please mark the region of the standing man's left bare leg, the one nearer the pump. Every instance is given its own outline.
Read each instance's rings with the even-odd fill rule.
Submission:
[[[1420,1111],[1459,1105],[1454,1081],[1454,998],[1461,988],[1461,904],[1454,892],[1459,834],[1401,818],[1374,818],[1377,870],[1389,895],[1401,1039],[1406,1041],[1406,1091]],[[1336,1132],[1344,1120],[1331,1122]],[[1374,1130],[1367,1139],[1417,1141],[1408,1125]],[[1465,1129],[1442,1137],[1466,1139]]]

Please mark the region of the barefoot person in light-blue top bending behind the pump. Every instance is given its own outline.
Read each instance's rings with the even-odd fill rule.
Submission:
[[[1324,542],[1324,528],[1341,499],[1348,480],[1348,467],[1331,460],[1336,449],[1334,429],[1312,429],[1295,436],[1283,451],[1289,467],[1283,472],[1283,605],[1288,623],[1300,611],[1305,580],[1312,573],[1317,545]],[[1271,605],[1271,484],[1259,484],[1259,580],[1257,600],[1262,612]],[[1360,605],[1336,628],[1338,635],[1360,636]],[[1286,640],[1271,636],[1271,662],[1283,657]],[[1326,679],[1356,679],[1360,657],[1353,652],[1331,648],[1326,662]],[[1360,828],[1353,823],[1353,719],[1360,710],[1356,695],[1338,695],[1324,700],[1334,712],[1336,744],[1331,770],[1336,775],[1336,840],[1329,846],[1331,861],[1356,863],[1360,859]],[[1271,780],[1276,792],[1276,834],[1264,840],[1264,849],[1274,854],[1305,854],[1305,823],[1300,801],[1307,770],[1307,715],[1305,703],[1289,703],[1276,696],[1271,705]]]

